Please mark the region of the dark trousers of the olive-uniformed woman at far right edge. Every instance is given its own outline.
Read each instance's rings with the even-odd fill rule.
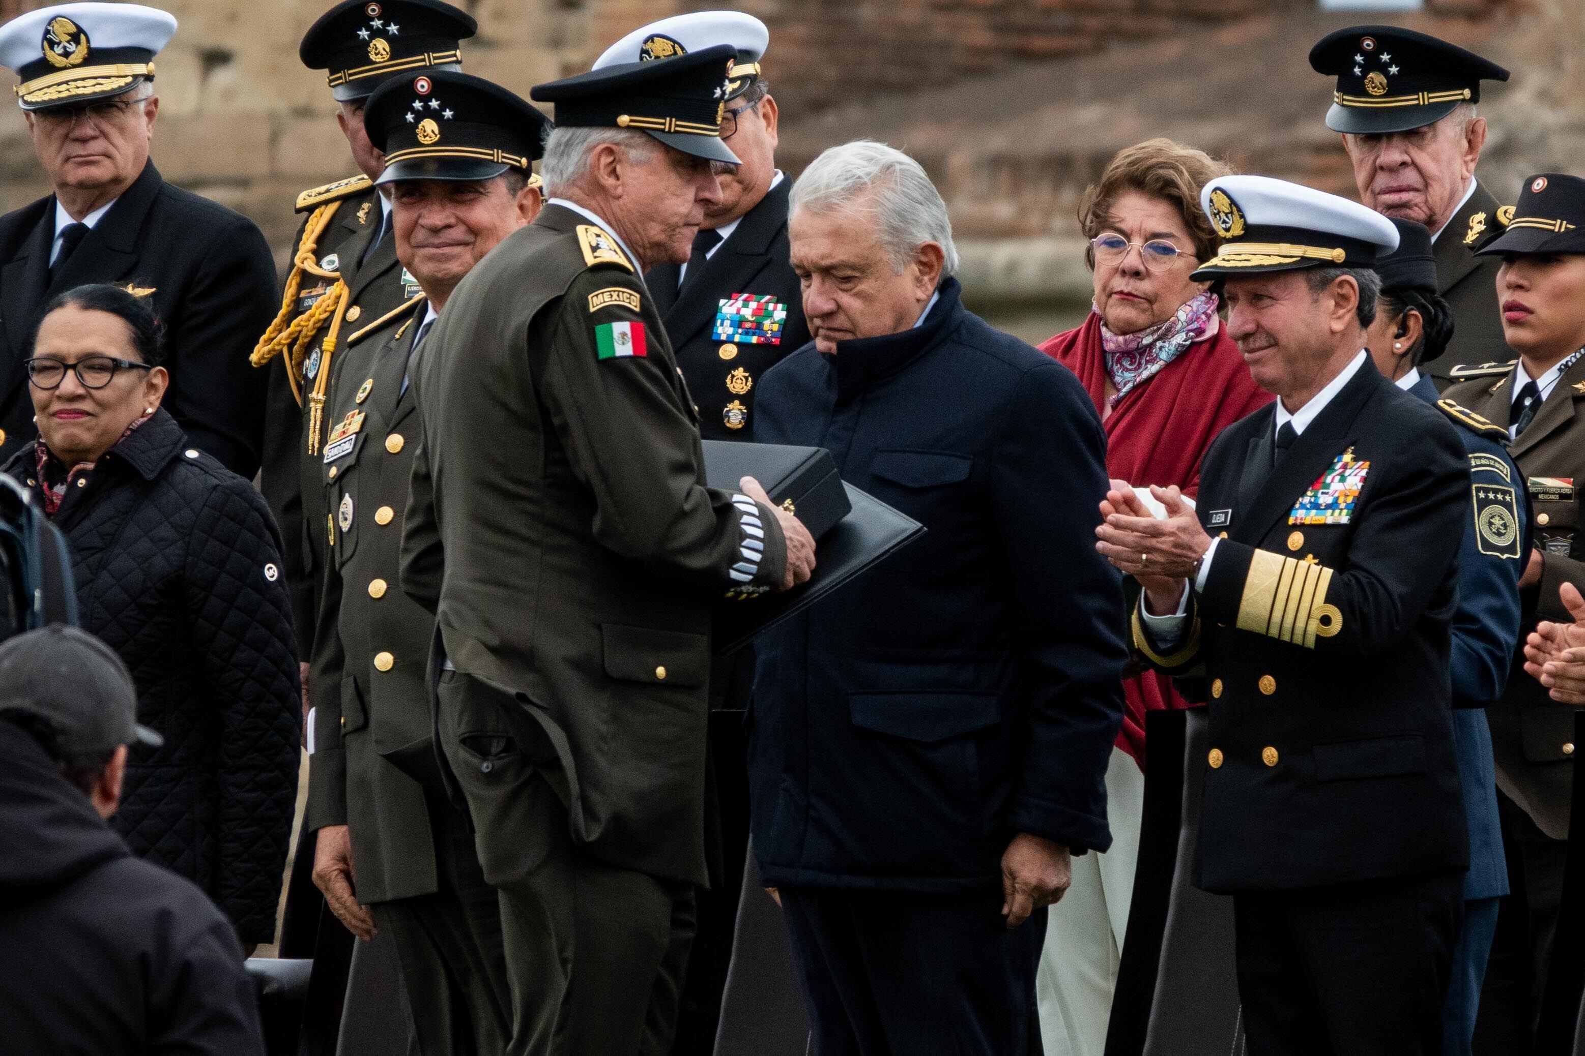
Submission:
[[[1476,1056],[1528,1056],[1547,988],[1569,844],[1542,833],[1501,790],[1496,812],[1503,822],[1511,895],[1498,912],[1474,1051]]]

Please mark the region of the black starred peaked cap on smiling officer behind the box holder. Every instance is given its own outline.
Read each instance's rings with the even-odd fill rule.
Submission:
[[[385,152],[376,184],[491,179],[529,173],[550,120],[499,84],[436,70],[388,81],[363,109],[369,141]]]

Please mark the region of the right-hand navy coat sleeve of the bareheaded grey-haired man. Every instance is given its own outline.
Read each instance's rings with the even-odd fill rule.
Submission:
[[[1095,553],[1106,439],[1062,366],[1024,374],[994,445],[991,502],[1030,682],[1014,831],[1106,850],[1106,765],[1122,725],[1122,579]]]

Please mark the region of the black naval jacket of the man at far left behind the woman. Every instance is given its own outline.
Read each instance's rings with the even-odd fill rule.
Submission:
[[[152,291],[171,372],[165,408],[195,446],[252,477],[265,378],[247,356],[277,304],[274,258],[254,222],[166,184],[149,161],[51,280],[54,239],[54,195],[0,217],[0,459],[38,435],[24,361],[44,304],[113,282]]]

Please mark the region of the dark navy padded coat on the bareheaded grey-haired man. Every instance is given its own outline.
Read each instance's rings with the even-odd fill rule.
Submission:
[[[1095,553],[1106,443],[1078,380],[948,279],[921,326],[805,345],[761,385],[758,440],[829,448],[927,529],[756,640],[766,883],[983,890],[1014,833],[1110,847],[1127,652]]]

